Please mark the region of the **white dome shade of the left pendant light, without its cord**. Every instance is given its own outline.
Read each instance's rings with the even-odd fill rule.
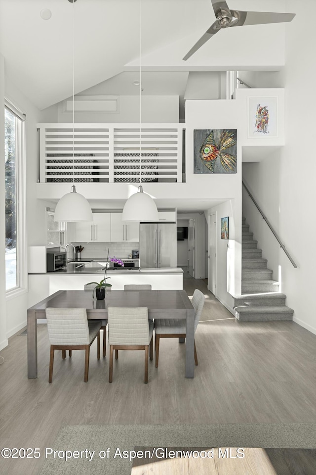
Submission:
[[[58,201],[54,221],[93,221],[90,205],[82,194],[76,192],[75,185]]]

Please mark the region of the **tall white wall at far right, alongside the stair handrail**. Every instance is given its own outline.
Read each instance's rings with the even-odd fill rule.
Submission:
[[[296,17],[293,28],[287,28],[285,36],[285,146],[276,156],[257,165],[246,164],[244,176],[298,265],[295,269],[282,249],[272,242],[263,220],[253,217],[250,226],[255,238],[262,243],[268,267],[275,273],[276,268],[281,269],[282,292],[287,295],[287,305],[294,309],[293,320],[316,333],[316,161],[313,146],[316,64],[311,60],[311,48],[308,47],[316,42],[315,29],[309,29],[308,44],[302,47],[306,11],[314,18],[316,2],[307,0],[304,10],[298,5],[294,0],[287,1],[286,5],[287,11],[296,12]],[[246,209],[251,216],[251,205],[247,204]]]

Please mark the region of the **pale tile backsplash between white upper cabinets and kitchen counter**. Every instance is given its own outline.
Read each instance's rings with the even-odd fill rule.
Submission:
[[[81,258],[106,257],[108,249],[110,249],[109,257],[127,258],[132,253],[132,249],[139,250],[139,242],[72,242],[72,244],[84,247]],[[71,257],[72,247],[69,246],[67,251],[70,252]]]

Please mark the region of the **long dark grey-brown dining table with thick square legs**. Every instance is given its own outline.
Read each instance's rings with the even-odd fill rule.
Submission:
[[[37,320],[48,307],[85,308],[88,319],[108,316],[108,307],[147,307],[148,317],[186,320],[186,378],[194,378],[194,307],[185,290],[110,290],[96,300],[89,290],[58,290],[27,311],[28,378],[38,375]]]

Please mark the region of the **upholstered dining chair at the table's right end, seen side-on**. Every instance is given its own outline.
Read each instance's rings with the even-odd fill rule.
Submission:
[[[203,306],[204,306],[205,297],[203,293],[195,289],[192,297],[192,305],[195,308],[194,315],[194,332],[197,330],[197,324],[199,322]],[[184,319],[156,319],[155,320],[155,352],[156,352],[156,368],[158,368],[158,359],[159,359],[159,340],[160,338],[185,338],[186,337],[186,321]],[[198,365],[197,361],[197,348],[196,341],[194,340],[194,360],[196,366]]]

